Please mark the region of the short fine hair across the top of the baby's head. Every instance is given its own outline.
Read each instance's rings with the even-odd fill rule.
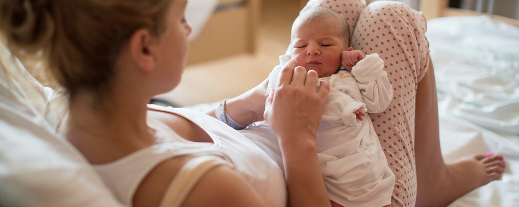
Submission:
[[[303,13],[301,13],[297,19],[294,21],[301,21],[301,24],[304,24],[306,22],[313,22],[313,21],[321,21],[321,20],[332,20],[337,22],[337,25],[340,26],[339,34],[338,36],[343,39],[344,42],[344,49],[349,47],[350,43],[350,27],[348,25],[348,22],[344,18],[342,14],[339,12],[326,8],[326,7],[312,7]],[[295,25],[295,24],[294,24]],[[292,31],[294,29],[294,25],[292,25]],[[293,38],[293,37],[292,37]]]

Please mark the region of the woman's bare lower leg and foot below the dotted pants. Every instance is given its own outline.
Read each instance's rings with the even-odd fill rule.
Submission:
[[[469,191],[499,179],[500,155],[476,154],[445,164],[440,152],[438,101],[431,62],[418,83],[415,118],[417,206],[446,206]]]

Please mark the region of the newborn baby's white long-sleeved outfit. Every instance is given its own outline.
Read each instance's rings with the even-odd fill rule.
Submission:
[[[289,60],[289,55],[280,56],[281,64],[269,75],[269,88],[276,85],[281,66]],[[330,81],[331,89],[317,134],[318,157],[330,199],[343,206],[391,203],[395,178],[370,116],[366,113],[359,121],[353,113],[359,109],[380,113],[389,105],[392,87],[383,68],[384,62],[373,53],[351,72],[341,69],[322,78]],[[264,134],[265,128],[255,128]],[[280,158],[275,160],[282,165]]]

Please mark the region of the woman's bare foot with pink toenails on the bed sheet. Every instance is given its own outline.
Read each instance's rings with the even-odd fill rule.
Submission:
[[[473,189],[501,178],[504,166],[503,156],[493,153],[462,157],[446,165],[446,175],[440,189],[448,194],[444,198],[451,198],[446,201],[453,202]]]

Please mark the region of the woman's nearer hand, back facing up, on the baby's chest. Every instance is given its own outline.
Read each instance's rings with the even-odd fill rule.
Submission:
[[[266,101],[265,120],[280,141],[297,139],[298,135],[316,136],[330,91],[327,81],[322,81],[316,91],[317,72],[295,65],[294,60],[284,65],[278,84]]]

